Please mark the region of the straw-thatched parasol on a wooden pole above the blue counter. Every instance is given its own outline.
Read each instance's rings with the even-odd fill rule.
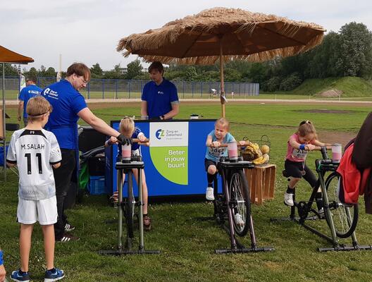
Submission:
[[[209,65],[220,60],[222,116],[225,116],[223,62],[267,61],[293,56],[323,40],[324,28],[239,8],[211,8],[173,20],[156,30],[120,39],[117,51],[144,61]]]

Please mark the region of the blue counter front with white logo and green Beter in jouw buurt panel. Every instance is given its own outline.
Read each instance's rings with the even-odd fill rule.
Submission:
[[[120,121],[111,121],[118,130]],[[141,146],[149,196],[199,195],[206,190],[206,137],[215,120],[135,121],[149,138]],[[106,188],[116,191],[118,146],[106,149]],[[137,192],[137,185],[135,189]],[[125,189],[123,190],[125,195]]]

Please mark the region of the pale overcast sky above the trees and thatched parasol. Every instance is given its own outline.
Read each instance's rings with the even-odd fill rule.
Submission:
[[[317,23],[328,32],[352,21],[372,30],[371,0],[0,0],[0,45],[32,57],[27,68],[58,71],[61,54],[63,71],[74,61],[110,70],[137,58],[116,51],[120,38],[218,6]]]

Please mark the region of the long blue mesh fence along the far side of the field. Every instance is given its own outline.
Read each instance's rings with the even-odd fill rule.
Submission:
[[[41,88],[56,82],[56,78],[37,78],[37,85]],[[148,80],[116,80],[92,79],[85,90],[80,92],[86,99],[140,99],[144,85]],[[173,81],[180,99],[201,99],[218,97],[220,82],[205,81]],[[6,99],[17,99],[20,78],[5,78]],[[2,80],[0,80],[2,89]],[[225,94],[230,98],[245,98],[259,95],[259,83],[225,82]]]

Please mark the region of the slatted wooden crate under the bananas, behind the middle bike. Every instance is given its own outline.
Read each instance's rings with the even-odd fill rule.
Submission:
[[[252,203],[262,204],[263,200],[274,198],[275,173],[275,164],[263,164],[245,169]]]

